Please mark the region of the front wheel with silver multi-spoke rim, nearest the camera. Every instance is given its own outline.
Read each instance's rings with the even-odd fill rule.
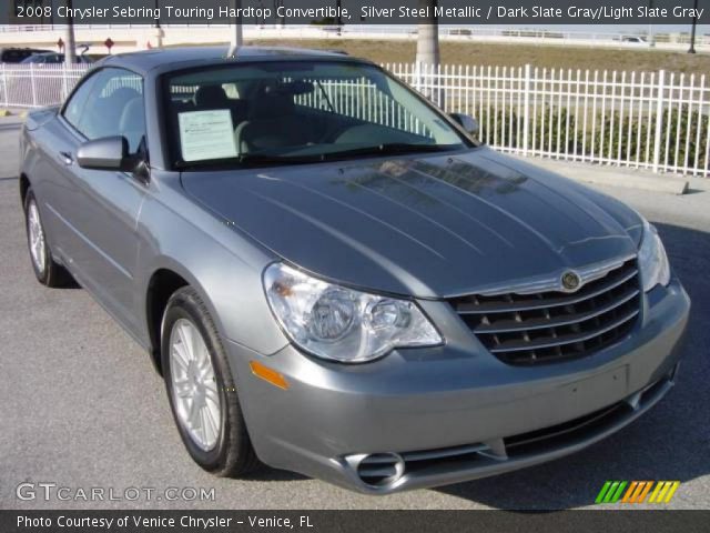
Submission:
[[[170,408],[192,459],[223,477],[256,470],[261,463],[246,431],[224,348],[207,309],[191,286],[178,290],[168,301],[161,335]]]

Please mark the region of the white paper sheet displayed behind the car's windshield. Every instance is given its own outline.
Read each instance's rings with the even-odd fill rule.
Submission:
[[[178,115],[183,161],[204,161],[239,155],[232,113],[227,109],[189,111]]]

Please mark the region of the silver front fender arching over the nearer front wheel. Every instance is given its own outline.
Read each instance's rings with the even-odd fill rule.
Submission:
[[[288,344],[264,295],[262,272],[274,257],[185,197],[179,183],[151,183],[138,224],[136,280],[148,330],[146,298],[153,273],[175,272],[202,296],[221,335],[262,354]]]

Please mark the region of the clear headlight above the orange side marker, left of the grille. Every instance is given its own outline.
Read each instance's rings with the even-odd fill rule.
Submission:
[[[407,300],[327,283],[283,263],[264,271],[264,289],[288,336],[321,358],[359,363],[394,348],[442,343],[434,325]]]

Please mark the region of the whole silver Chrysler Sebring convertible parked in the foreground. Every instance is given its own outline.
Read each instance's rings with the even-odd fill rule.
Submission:
[[[671,389],[690,301],[639,213],[475,139],[341,53],[110,57],[23,127],[31,264],[145,348],[216,475],[549,461]]]

